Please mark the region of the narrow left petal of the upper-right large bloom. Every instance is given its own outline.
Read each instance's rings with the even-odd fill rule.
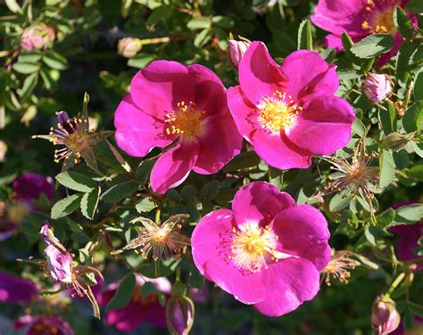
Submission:
[[[253,119],[259,115],[259,110],[248,102],[241,91],[241,86],[230,87],[228,90],[228,104],[232,118],[236,123],[238,132],[251,143],[256,125]]]

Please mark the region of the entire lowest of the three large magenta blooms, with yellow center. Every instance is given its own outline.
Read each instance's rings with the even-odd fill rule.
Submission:
[[[319,292],[319,271],[331,255],[328,238],[318,209],[254,182],[236,192],[232,210],[203,217],[191,245],[206,279],[263,315],[280,316]]]

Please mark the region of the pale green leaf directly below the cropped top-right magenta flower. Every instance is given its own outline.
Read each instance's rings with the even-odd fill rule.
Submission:
[[[373,58],[386,53],[394,46],[394,40],[390,34],[378,34],[364,37],[356,45],[352,45],[351,51],[360,58]]]

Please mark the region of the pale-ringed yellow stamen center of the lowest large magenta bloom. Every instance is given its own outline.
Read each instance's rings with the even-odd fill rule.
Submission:
[[[245,223],[239,230],[233,228],[232,233],[231,255],[228,257],[239,269],[259,273],[261,268],[268,268],[269,258],[278,262],[278,235],[269,225],[263,228],[257,223]]]

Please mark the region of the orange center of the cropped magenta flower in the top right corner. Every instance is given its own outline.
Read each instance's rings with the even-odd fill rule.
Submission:
[[[367,12],[373,12],[375,4],[373,0],[368,0],[366,6]],[[394,2],[396,4],[396,2]],[[364,14],[365,20],[361,23],[362,29],[369,29],[371,34],[392,34],[396,33],[394,23],[394,6],[389,6],[382,11],[373,13],[369,18],[369,13]],[[369,20],[368,20],[369,19]]]

